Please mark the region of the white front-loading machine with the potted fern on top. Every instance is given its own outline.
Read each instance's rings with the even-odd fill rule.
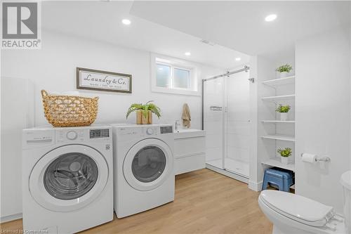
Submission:
[[[173,126],[112,124],[118,218],[174,200]]]

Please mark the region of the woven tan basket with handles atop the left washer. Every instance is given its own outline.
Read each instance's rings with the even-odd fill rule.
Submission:
[[[53,126],[89,126],[98,115],[98,97],[49,95],[41,90],[46,119]]]

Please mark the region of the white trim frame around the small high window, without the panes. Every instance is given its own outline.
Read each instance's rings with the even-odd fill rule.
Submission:
[[[156,53],[150,53],[150,63],[151,63],[150,66],[151,66],[151,91],[152,92],[201,96],[201,91],[199,89],[199,77],[198,77],[199,72],[197,71],[198,68],[195,63],[192,63],[186,60],[180,60],[179,58],[162,56]],[[157,80],[156,80],[157,63],[171,66],[171,72],[173,72],[172,71],[173,68],[189,70],[190,89],[164,88],[164,87],[157,86]],[[171,80],[171,82],[173,81]]]

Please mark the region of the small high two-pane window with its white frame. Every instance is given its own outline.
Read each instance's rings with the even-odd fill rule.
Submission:
[[[199,96],[196,66],[185,60],[152,55],[152,91]]]

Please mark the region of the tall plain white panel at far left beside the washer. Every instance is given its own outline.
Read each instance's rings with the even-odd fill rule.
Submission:
[[[1,77],[0,221],[22,216],[22,129],[34,124],[34,87],[28,79]],[[32,98],[28,98],[32,96]],[[4,115],[3,113],[9,113]]]

